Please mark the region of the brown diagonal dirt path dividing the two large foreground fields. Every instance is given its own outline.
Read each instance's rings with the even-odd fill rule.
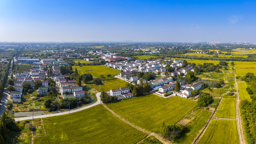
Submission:
[[[148,136],[155,136],[158,140],[160,140],[162,143],[164,144],[172,144],[172,142],[170,142],[169,140],[164,139],[160,134],[156,134],[154,132],[150,132],[147,130],[144,130],[143,128],[140,128],[139,126],[135,126],[134,124],[132,124],[131,122],[129,122],[128,120],[125,120],[123,117],[119,116],[117,113],[115,113],[113,110],[111,110],[108,106],[106,106],[106,104],[102,104],[107,110],[109,110],[109,112],[111,112],[114,116],[116,116],[117,118],[119,118],[120,120],[122,120],[123,122],[129,124],[130,126],[132,126],[133,128],[136,128],[137,130],[146,133]]]

